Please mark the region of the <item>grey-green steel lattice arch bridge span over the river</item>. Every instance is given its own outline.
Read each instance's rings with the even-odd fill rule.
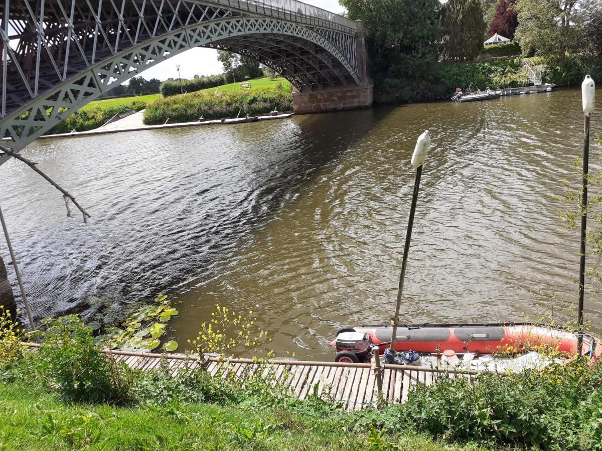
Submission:
[[[296,0],[0,0],[0,25],[0,138],[16,152],[198,46],[255,58],[303,91],[361,82],[356,23]]]

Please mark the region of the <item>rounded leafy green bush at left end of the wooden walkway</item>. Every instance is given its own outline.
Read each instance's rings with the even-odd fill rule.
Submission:
[[[36,372],[64,400],[125,403],[130,400],[131,375],[94,345],[92,328],[76,315],[43,321],[38,331],[42,346],[35,359]]]

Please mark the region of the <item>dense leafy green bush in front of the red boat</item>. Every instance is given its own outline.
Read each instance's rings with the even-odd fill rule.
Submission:
[[[385,431],[408,428],[447,440],[554,450],[602,449],[602,364],[581,359],[548,369],[416,385],[379,415]]]

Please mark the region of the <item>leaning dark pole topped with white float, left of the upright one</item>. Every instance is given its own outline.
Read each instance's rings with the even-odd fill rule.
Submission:
[[[399,289],[397,289],[397,304],[395,307],[395,316],[391,318],[393,331],[391,331],[391,351],[395,351],[395,340],[397,336],[397,325],[399,325],[399,309],[402,304],[403,280],[406,278],[406,265],[408,263],[408,253],[410,250],[410,241],[412,239],[412,227],[414,226],[414,213],[416,212],[416,203],[418,201],[418,191],[420,190],[420,176],[422,167],[426,160],[426,153],[429,151],[430,135],[429,130],[425,130],[414,147],[412,155],[412,167],[416,170],[416,180],[414,182],[414,194],[412,194],[412,206],[410,207],[410,217],[408,220],[408,231],[406,232],[406,242],[403,245],[402,274],[399,277]]]

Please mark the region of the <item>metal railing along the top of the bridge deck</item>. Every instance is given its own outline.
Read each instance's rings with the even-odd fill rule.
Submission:
[[[340,14],[305,4],[297,0],[212,0],[212,2],[228,6],[240,11],[279,17],[284,20],[307,23],[353,33],[356,31],[355,20],[347,19]]]

